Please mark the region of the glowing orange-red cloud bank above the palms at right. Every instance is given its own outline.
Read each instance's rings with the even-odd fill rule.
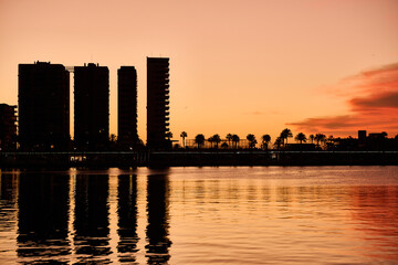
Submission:
[[[338,83],[336,95],[349,106],[347,115],[312,117],[290,123],[298,130],[341,136],[358,129],[398,132],[398,63],[360,72]]]

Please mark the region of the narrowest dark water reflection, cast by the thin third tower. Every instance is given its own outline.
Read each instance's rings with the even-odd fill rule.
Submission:
[[[119,262],[134,263],[139,240],[137,235],[137,176],[118,176],[117,202]]]

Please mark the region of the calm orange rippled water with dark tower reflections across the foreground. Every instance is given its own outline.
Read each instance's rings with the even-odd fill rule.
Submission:
[[[15,263],[398,264],[398,167],[3,171]]]

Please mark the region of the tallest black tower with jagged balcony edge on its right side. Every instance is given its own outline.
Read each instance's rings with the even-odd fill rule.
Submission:
[[[169,59],[147,57],[147,146],[170,147],[169,131]]]

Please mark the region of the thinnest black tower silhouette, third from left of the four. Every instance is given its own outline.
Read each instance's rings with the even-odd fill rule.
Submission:
[[[123,146],[129,148],[137,144],[137,72],[134,66],[117,70],[117,130]]]

